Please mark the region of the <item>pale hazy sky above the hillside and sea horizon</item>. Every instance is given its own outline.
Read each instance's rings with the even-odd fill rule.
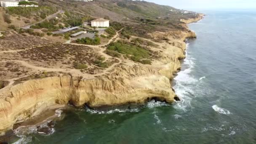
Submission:
[[[145,0],[175,8],[196,9],[256,9],[256,0]]]

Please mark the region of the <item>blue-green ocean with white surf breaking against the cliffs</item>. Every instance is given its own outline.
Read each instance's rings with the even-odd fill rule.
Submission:
[[[189,24],[197,39],[189,40],[173,82],[177,104],[66,110],[53,133],[29,133],[16,143],[256,143],[256,12],[203,13]]]

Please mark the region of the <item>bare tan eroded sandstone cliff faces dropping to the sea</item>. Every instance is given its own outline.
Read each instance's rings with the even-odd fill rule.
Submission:
[[[195,22],[203,18],[181,20]],[[13,125],[35,118],[49,109],[72,104],[91,109],[113,109],[145,104],[155,99],[173,103],[179,100],[171,88],[171,80],[185,58],[187,38],[196,38],[192,31],[155,32],[154,37],[168,37],[171,43],[161,49],[160,59],[152,65],[119,64],[109,75],[93,79],[64,73],[8,85],[0,89],[0,136]]]

